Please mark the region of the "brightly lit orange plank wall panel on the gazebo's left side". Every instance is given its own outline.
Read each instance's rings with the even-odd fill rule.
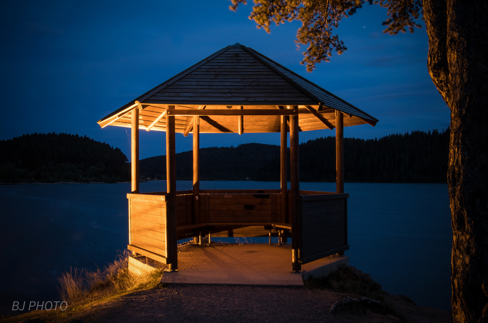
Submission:
[[[129,250],[165,263],[166,258],[166,203],[151,199],[129,198]],[[141,196],[142,198],[144,195]],[[145,252],[148,251],[148,252]],[[147,253],[147,254],[146,254]]]

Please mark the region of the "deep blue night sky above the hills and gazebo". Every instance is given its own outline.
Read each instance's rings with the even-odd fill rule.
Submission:
[[[344,19],[341,56],[306,73],[294,43],[299,22],[271,34],[237,13],[229,1],[9,1],[2,5],[0,139],[24,133],[87,135],[129,157],[126,129],[100,118],[213,54],[240,42],[278,61],[380,120],[345,128],[345,136],[374,138],[412,130],[446,129],[449,109],[427,73],[425,28],[384,35],[386,9],[365,5]],[[421,22],[423,24],[423,21]],[[130,130],[127,129],[128,135]],[[334,135],[301,132],[300,141]],[[165,133],[141,132],[140,157],[165,153]],[[191,150],[177,134],[176,150]],[[201,147],[247,142],[279,144],[279,133],[202,134]]]

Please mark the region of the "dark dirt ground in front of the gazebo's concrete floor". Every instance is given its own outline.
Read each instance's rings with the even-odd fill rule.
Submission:
[[[125,295],[65,322],[452,322],[449,312],[416,306],[397,296],[391,297],[396,298],[398,317],[361,308],[329,314],[330,306],[346,296],[309,287],[168,286]]]

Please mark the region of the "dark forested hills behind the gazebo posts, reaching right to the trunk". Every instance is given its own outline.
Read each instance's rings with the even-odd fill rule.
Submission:
[[[449,133],[447,129],[390,134],[380,139],[344,138],[345,180],[446,183]],[[309,140],[300,144],[299,152],[300,181],[335,181],[335,137]],[[176,167],[177,179],[191,180],[192,152],[177,153]],[[280,147],[251,143],[202,148],[200,169],[202,180],[279,181]],[[140,173],[144,177],[165,179],[166,156],[142,159]]]

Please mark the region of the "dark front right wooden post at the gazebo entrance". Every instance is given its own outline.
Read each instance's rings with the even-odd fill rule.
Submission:
[[[298,109],[298,106],[293,106]],[[298,115],[290,116],[290,208],[291,208],[291,267],[300,271],[300,219],[298,212],[298,194],[300,193],[300,178],[298,166]]]

